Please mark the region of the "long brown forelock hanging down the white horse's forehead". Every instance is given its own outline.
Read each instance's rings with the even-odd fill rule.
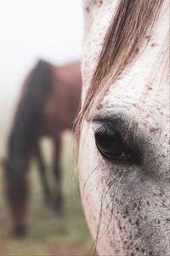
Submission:
[[[135,60],[141,46],[147,45],[164,0],[120,0],[106,34],[103,48],[82,110],[76,121],[76,153],[82,124],[94,113],[122,71]]]

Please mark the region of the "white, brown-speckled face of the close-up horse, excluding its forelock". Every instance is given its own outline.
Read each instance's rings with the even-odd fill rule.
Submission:
[[[170,252],[169,91],[161,66],[166,2],[147,47],[108,91],[94,121],[82,127],[82,203],[101,255]],[[84,2],[82,102],[117,3]]]

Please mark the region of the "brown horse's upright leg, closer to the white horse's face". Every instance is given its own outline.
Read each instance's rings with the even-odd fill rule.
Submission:
[[[58,134],[54,139],[54,207],[56,212],[62,212],[63,209],[63,195],[62,195],[62,177],[60,168],[60,150],[61,150],[61,138]]]

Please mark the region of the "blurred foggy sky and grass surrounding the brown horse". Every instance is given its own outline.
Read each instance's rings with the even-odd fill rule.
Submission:
[[[82,1],[0,0],[0,160],[7,154],[8,134],[26,75],[44,59],[65,65],[81,58]],[[42,139],[50,177],[51,142]],[[82,213],[77,180],[73,177],[72,135],[62,137],[64,213],[57,217],[44,205],[37,163],[31,160],[26,237],[10,236],[12,219],[4,197],[0,169],[0,255],[86,255],[91,238]]]

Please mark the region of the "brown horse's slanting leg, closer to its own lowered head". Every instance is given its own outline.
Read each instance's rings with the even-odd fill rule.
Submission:
[[[42,191],[43,191],[45,203],[50,204],[52,200],[51,200],[50,188],[48,184],[48,177],[46,175],[46,168],[42,159],[41,148],[39,147],[37,148],[37,164],[39,167],[39,173],[40,173],[40,178],[42,182]]]

